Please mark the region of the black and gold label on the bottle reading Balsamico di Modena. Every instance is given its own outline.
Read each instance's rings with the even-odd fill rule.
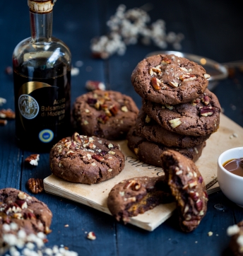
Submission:
[[[25,132],[49,143],[56,136],[57,125],[64,122],[66,98],[57,86],[29,81],[18,91],[18,110]]]

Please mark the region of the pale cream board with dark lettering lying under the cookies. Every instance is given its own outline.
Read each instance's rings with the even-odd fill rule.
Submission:
[[[121,180],[129,178],[145,175],[154,177],[163,174],[162,168],[139,161],[127,147],[126,141],[116,141],[116,143],[121,146],[121,151],[126,159],[124,170],[117,177],[99,184],[85,185],[67,182],[54,175],[50,175],[44,180],[45,191],[110,214],[107,208],[107,197],[114,185]],[[218,132],[212,134],[207,140],[202,156],[196,161],[209,194],[219,190],[217,182],[218,156],[223,151],[238,146],[243,146],[243,128],[222,114],[220,116]],[[130,223],[147,231],[153,231],[172,215],[174,209],[174,203],[160,204],[145,214],[139,214],[131,218]]]

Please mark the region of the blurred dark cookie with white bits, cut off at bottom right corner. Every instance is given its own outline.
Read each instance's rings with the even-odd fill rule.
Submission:
[[[227,228],[227,235],[230,235],[230,249],[235,256],[243,255],[243,221],[237,225],[229,226]]]

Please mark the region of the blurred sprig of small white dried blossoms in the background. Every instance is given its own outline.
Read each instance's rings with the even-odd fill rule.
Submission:
[[[171,44],[175,50],[181,50],[180,42],[184,39],[182,33],[170,32],[166,34],[165,21],[158,20],[147,25],[150,16],[141,8],[132,8],[126,11],[126,6],[118,6],[114,16],[107,21],[110,33],[91,40],[90,49],[93,57],[107,59],[112,54],[123,55],[126,45],[135,45],[139,39],[143,45],[153,42],[156,46],[165,49]]]

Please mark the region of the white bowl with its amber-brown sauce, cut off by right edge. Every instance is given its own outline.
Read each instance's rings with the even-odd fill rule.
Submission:
[[[219,156],[217,175],[225,196],[243,207],[243,147],[228,149]]]

